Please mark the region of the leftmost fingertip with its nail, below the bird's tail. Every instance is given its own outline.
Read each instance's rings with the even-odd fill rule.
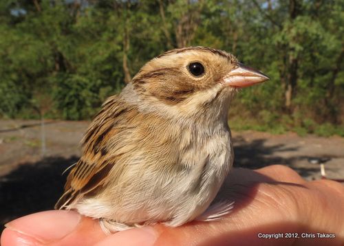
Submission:
[[[98,221],[77,212],[52,210],[6,224],[1,245],[94,245],[103,238]]]

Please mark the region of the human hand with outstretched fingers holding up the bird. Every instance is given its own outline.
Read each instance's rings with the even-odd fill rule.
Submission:
[[[1,245],[344,245],[341,183],[305,181],[279,165],[235,168],[216,199],[235,201],[221,221],[175,228],[152,225],[109,236],[98,221],[76,212],[39,212],[8,223]],[[283,238],[259,238],[259,233],[280,233]],[[295,233],[299,238],[286,238]],[[302,238],[304,233],[315,238]],[[319,238],[317,233],[335,238]]]

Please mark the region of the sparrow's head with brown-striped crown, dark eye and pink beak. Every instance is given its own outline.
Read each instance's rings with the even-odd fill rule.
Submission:
[[[232,54],[208,47],[185,47],[150,60],[129,87],[141,107],[150,111],[180,116],[200,115],[211,109],[226,116],[229,100],[238,88],[265,80],[267,76],[241,65]]]

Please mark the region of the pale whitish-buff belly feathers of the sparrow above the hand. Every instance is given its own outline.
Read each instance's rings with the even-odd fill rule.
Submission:
[[[112,194],[85,199],[78,203],[77,210],[86,216],[127,225],[156,222],[182,225],[208,208],[230,170],[231,148],[217,150],[212,155],[195,152],[189,156],[192,163],[185,156],[184,163],[169,170],[146,168],[139,173],[133,168],[131,177],[126,179],[136,182],[116,183],[108,189]]]

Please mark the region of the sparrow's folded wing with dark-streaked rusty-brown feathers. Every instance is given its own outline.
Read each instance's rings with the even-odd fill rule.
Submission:
[[[69,172],[65,193],[56,203],[56,209],[67,208],[78,198],[106,184],[109,170],[116,164],[116,157],[123,154],[122,151],[113,153],[109,150],[109,139],[120,139],[125,135],[123,132],[129,128],[126,126],[127,119],[133,113],[133,109],[126,102],[121,102],[118,96],[109,98],[103,104],[103,109],[96,115],[82,140],[83,156]],[[111,155],[109,151],[112,151]]]

